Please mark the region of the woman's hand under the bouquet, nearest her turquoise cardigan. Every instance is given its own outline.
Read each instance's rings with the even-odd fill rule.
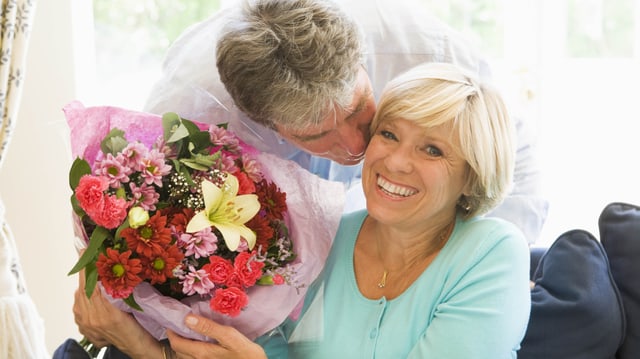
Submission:
[[[218,343],[213,344],[183,338],[167,330],[171,348],[180,359],[267,358],[264,350],[258,344],[249,340],[235,328],[220,325],[212,320],[193,314],[187,315],[185,324],[191,330],[215,339]]]

